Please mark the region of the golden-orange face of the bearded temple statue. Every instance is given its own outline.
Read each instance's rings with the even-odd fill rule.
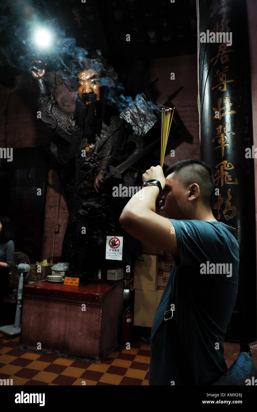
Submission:
[[[89,105],[92,99],[100,100],[100,76],[94,70],[82,70],[77,75],[80,100]]]

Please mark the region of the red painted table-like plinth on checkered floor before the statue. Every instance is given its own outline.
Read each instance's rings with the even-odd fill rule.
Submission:
[[[19,346],[101,362],[119,341],[122,307],[123,280],[25,285]]]

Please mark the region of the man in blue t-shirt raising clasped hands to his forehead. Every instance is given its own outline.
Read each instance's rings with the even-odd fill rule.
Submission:
[[[227,370],[223,341],[238,292],[236,229],[212,214],[215,184],[204,162],[179,161],[166,179],[152,166],[143,182],[144,196],[130,199],[120,223],[175,262],[153,319],[149,384],[211,385]],[[165,315],[169,299],[173,312]]]

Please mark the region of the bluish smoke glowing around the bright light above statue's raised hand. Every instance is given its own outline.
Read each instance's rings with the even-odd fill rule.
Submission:
[[[51,61],[55,70],[67,70],[75,75],[76,70],[83,68],[88,52],[76,47],[73,37],[66,37],[65,30],[49,15],[44,2],[40,5],[44,10],[32,2],[4,9],[5,15],[0,18],[2,63],[28,72],[31,61],[41,58]],[[49,47],[40,47],[36,43],[35,36],[40,29],[50,32],[52,42]]]

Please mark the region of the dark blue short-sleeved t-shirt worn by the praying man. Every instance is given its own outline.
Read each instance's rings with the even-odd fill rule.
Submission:
[[[153,319],[149,384],[211,385],[227,370],[223,341],[238,292],[236,229],[216,221],[170,221],[179,257]],[[173,318],[164,321],[170,293]]]

